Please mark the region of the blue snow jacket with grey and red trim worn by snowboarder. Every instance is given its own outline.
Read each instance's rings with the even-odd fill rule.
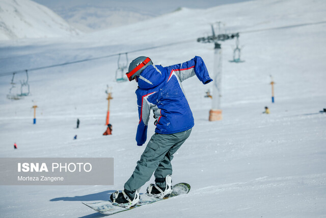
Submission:
[[[140,119],[136,135],[138,146],[146,141],[151,110],[156,119],[156,133],[172,134],[193,128],[193,113],[181,82],[195,75],[203,84],[212,81],[203,59],[198,56],[167,67],[149,65],[142,71],[136,90]]]

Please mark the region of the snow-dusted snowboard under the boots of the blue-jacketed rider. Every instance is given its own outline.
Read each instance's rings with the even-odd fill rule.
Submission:
[[[178,183],[172,186],[172,192],[170,194],[169,197],[164,198],[164,199],[158,199],[158,198],[154,198],[154,197],[149,197],[146,194],[143,194],[140,196],[140,201],[130,207],[130,208],[124,208],[124,207],[119,207],[119,206],[115,206],[112,205],[111,201],[102,201],[102,202],[95,202],[95,203],[83,203],[86,206],[92,208],[93,210],[105,214],[105,215],[113,215],[116,213],[120,213],[126,210],[131,210],[137,207],[141,207],[143,205],[146,204],[152,204],[158,201],[163,201],[169,198],[173,198],[179,195],[184,195],[186,193],[188,193],[190,190],[190,185],[187,183]]]

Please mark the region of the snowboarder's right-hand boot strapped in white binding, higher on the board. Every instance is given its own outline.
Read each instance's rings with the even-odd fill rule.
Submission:
[[[155,179],[156,185],[150,184],[147,188],[147,195],[150,197],[163,199],[168,198],[172,192],[172,178],[168,175],[165,179]],[[164,186],[165,185],[165,186]]]

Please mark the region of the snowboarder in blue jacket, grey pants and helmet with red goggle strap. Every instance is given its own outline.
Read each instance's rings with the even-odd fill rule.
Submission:
[[[140,118],[137,145],[142,146],[146,142],[150,110],[154,112],[156,129],[133,174],[124,184],[124,190],[110,196],[113,203],[126,208],[137,204],[140,188],[153,173],[156,184],[148,186],[148,194],[164,198],[172,192],[171,160],[194,126],[194,117],[181,82],[195,75],[203,84],[212,81],[203,59],[198,56],[167,67],[153,65],[151,59],[144,56],[130,63],[127,77],[139,85],[136,90]]]

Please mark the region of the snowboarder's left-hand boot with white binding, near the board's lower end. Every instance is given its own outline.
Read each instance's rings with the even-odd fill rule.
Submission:
[[[130,208],[139,202],[140,200],[139,192],[140,192],[140,188],[137,189],[134,193],[131,193],[126,190],[119,192],[117,190],[112,193],[112,195],[110,196],[110,200],[112,201],[113,205],[124,207],[124,208]]]

